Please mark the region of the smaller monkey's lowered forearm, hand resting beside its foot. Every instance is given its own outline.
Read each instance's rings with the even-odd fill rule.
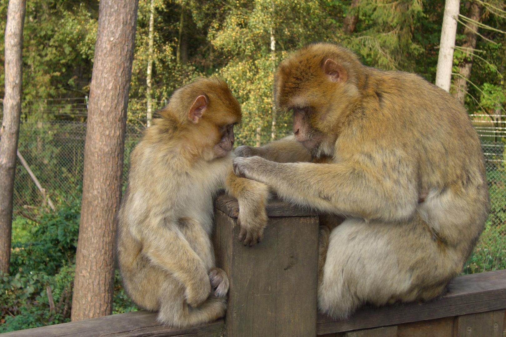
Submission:
[[[174,225],[176,226],[176,225]],[[158,228],[163,228],[161,225]],[[209,296],[211,285],[204,262],[177,230],[159,229],[145,233],[143,251],[151,263],[172,274],[185,287],[186,301],[198,307]]]

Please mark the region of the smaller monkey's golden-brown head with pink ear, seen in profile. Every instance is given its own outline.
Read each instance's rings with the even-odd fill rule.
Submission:
[[[239,102],[217,77],[200,78],[179,88],[159,115],[176,119],[185,148],[205,160],[224,157],[232,150],[234,125],[242,117]]]

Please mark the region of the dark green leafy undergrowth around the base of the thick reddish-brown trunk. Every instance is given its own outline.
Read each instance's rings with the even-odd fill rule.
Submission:
[[[23,216],[13,221],[11,273],[0,274],[0,322],[5,320],[0,333],[70,321],[80,199],[58,200],[56,212],[37,208],[29,213],[36,222]],[[113,313],[136,310],[116,271]]]

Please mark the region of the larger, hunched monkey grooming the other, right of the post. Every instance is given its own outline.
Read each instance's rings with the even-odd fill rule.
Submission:
[[[480,140],[465,110],[421,77],[312,44],[275,78],[293,136],[239,147],[237,174],[282,198],[348,217],[332,230],[319,308],[426,301],[460,273],[488,213]],[[303,163],[328,156],[332,163]]]

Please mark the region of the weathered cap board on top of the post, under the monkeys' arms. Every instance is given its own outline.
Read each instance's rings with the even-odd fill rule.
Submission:
[[[230,197],[222,189],[215,199],[215,208],[227,214],[231,218],[237,218],[239,214],[239,204],[237,200]],[[296,216],[316,216],[316,211],[310,208],[303,208],[297,205],[286,203],[276,196],[271,198],[266,206],[269,217],[296,217]]]

